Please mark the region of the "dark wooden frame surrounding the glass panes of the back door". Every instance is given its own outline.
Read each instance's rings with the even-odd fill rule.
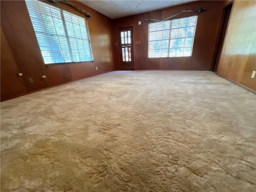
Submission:
[[[134,40],[133,40],[133,26],[126,26],[126,27],[121,27],[118,28],[118,54],[119,54],[119,66],[121,70],[127,70],[127,69],[123,69],[122,68],[122,48],[121,48],[121,36],[120,36],[120,32],[122,31],[126,31],[126,30],[131,30],[131,60],[129,63],[132,64],[132,69],[130,70],[134,70],[134,49],[133,49],[133,44],[134,44]]]

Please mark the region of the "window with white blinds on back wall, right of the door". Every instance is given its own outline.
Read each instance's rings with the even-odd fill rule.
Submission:
[[[148,24],[148,57],[192,55],[197,16]]]

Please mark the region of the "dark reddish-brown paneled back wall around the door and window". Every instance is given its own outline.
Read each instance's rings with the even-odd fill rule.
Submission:
[[[118,28],[132,26],[134,34],[135,70],[210,70],[214,48],[218,37],[224,7],[230,1],[196,1],[188,4],[164,8],[113,20],[114,54],[118,55]],[[143,2],[142,2],[143,3]],[[148,58],[148,22],[146,18],[162,19],[181,10],[206,8],[198,15],[193,52],[191,57]],[[191,16],[184,14],[179,17]],[[176,18],[179,18],[176,17]],[[141,21],[141,25],[138,25]],[[115,69],[120,69],[119,58],[115,59]],[[169,63],[169,66],[167,65]]]

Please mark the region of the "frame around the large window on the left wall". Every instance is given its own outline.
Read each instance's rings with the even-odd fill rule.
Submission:
[[[38,48],[40,50],[40,54],[42,56],[42,60],[44,62],[44,65],[46,67],[52,67],[52,66],[63,66],[63,65],[70,65],[70,64],[83,64],[83,63],[93,63],[94,62],[94,57],[93,57],[93,54],[92,54],[92,42],[91,42],[91,38],[90,38],[90,32],[89,32],[89,26],[88,26],[88,20],[87,20],[87,17],[84,16],[83,14],[81,14],[80,12],[77,12],[76,10],[70,10],[69,8],[66,8],[65,6],[62,6],[60,3],[56,3],[56,4],[53,4],[51,2],[48,2],[48,1],[43,1],[43,0],[36,0],[36,1],[39,1],[39,2],[42,2],[42,3],[45,3],[45,4],[48,4],[50,6],[54,6],[55,8],[58,8],[60,9],[60,13],[61,15],[63,16],[63,11],[66,11],[70,14],[74,14],[78,17],[81,17],[85,20],[85,26],[86,26],[86,30],[87,30],[87,34],[88,34],[88,41],[89,41],[89,44],[90,44],[90,54],[91,54],[91,57],[92,57],[92,60],[91,61],[72,61],[72,62],[60,62],[60,63],[50,63],[50,64],[46,64],[44,62],[44,57],[42,55],[42,50],[40,48],[40,44],[38,42],[38,39],[37,39],[37,36],[36,36],[36,31],[34,30],[34,26],[32,24],[32,20],[31,20],[31,17],[30,17],[30,13],[28,11],[28,14],[29,14],[29,17],[30,17],[30,22],[32,24],[32,28],[33,28],[33,31],[34,31],[34,34],[35,34],[35,37],[36,37],[36,42],[38,44]],[[27,7],[27,10],[28,10],[28,6],[26,5]],[[65,20],[64,20],[65,21]],[[67,31],[67,28],[66,28],[66,24],[63,23],[63,19],[62,19],[62,25],[64,27],[64,30]],[[55,25],[54,25],[55,26]],[[69,36],[66,36],[66,38],[69,38]],[[68,40],[69,41],[69,40]],[[71,54],[71,52],[70,52]]]

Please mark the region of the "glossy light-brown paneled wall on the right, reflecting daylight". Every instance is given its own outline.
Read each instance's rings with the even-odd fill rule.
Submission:
[[[256,2],[234,1],[217,74],[256,90]]]

